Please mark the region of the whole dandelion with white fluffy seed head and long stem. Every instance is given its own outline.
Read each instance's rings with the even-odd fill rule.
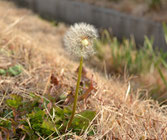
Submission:
[[[77,58],[80,58],[80,65],[78,71],[78,80],[75,90],[75,97],[73,103],[73,110],[71,118],[68,122],[67,129],[71,126],[74,119],[74,115],[77,107],[78,92],[80,87],[80,81],[82,77],[82,66],[83,59],[93,55],[94,51],[94,40],[98,37],[97,30],[94,26],[86,23],[76,23],[70,27],[64,36],[64,45],[68,52]]]

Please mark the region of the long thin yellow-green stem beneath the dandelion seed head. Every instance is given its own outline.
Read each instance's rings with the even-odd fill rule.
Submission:
[[[70,121],[67,125],[67,129],[71,126],[72,121],[74,119],[76,107],[77,107],[77,100],[78,100],[78,91],[79,91],[79,86],[80,86],[80,81],[81,81],[81,76],[82,76],[82,64],[83,64],[83,57],[80,59],[80,65],[79,65],[79,71],[78,71],[78,80],[77,80],[77,86],[76,86],[76,91],[75,91],[75,97],[74,97],[74,105],[73,105],[73,110],[72,110],[72,115],[70,118]]]

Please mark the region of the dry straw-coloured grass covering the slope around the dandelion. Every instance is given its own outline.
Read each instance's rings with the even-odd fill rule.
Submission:
[[[63,77],[63,83],[69,87],[75,87],[78,63],[71,60],[62,48],[65,25],[52,27],[30,11],[4,1],[0,1],[0,17],[0,67],[19,63],[25,68],[17,77],[0,76],[1,100],[10,93],[25,98],[30,92],[47,93],[51,73]],[[127,83],[106,79],[95,70],[87,69],[89,76],[94,75],[98,90],[86,105],[80,102],[78,110],[92,108],[97,111],[97,123],[92,124],[97,133],[90,139],[166,139],[165,106],[160,107],[148,99],[140,100],[141,91],[129,93]],[[86,134],[78,139],[88,139]]]

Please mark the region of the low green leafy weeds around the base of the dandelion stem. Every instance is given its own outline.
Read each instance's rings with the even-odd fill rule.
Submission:
[[[0,138],[9,140],[70,137],[68,133],[63,136],[72,114],[69,106],[54,105],[55,102],[45,96],[33,93],[30,93],[30,99],[11,94],[4,103],[7,108],[0,112]],[[70,126],[72,132],[82,134],[95,115],[96,113],[90,110],[78,113]],[[88,129],[88,135],[91,135],[92,132],[91,128]]]

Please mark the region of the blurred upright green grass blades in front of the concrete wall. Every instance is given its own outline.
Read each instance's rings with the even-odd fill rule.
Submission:
[[[163,26],[165,38],[167,38],[166,26],[165,24]],[[139,80],[138,82],[141,86],[145,85],[142,82],[146,74],[156,73],[155,78],[160,77],[159,81],[162,82],[160,84],[154,83],[155,85],[150,87],[150,95],[153,95],[152,92],[154,92],[154,95],[156,95],[153,95],[154,99],[159,100],[158,96],[162,94],[162,86],[164,85],[166,90],[163,90],[163,94],[166,95],[167,79],[164,72],[167,69],[167,52],[153,49],[153,39],[145,37],[143,46],[137,48],[133,38],[131,40],[123,39],[120,42],[117,38],[111,37],[105,30],[102,33],[101,40],[96,41],[95,44],[97,50],[96,57],[99,61],[107,62],[107,72],[123,75],[126,70],[128,75],[138,75],[142,79],[142,81]],[[156,80],[158,81],[158,79]],[[165,98],[161,98],[161,101],[163,100]]]

